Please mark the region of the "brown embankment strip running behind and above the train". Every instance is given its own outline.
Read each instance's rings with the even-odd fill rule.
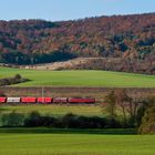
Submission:
[[[1,86],[0,91],[7,96],[93,96],[102,101],[104,96],[111,91],[118,90],[117,87],[14,87]],[[141,89],[141,87],[126,87],[126,93],[132,97],[140,99],[149,95],[155,95],[155,87]]]

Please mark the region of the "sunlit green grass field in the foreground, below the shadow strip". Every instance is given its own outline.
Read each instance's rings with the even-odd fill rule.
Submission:
[[[11,131],[11,130],[8,130]],[[111,135],[101,132],[4,133],[0,155],[154,155],[155,135]],[[50,131],[50,130],[49,130]]]

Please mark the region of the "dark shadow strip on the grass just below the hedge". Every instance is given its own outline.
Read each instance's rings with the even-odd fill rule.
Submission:
[[[0,133],[17,133],[17,134],[108,134],[108,135],[133,135],[136,134],[132,128],[117,130],[60,130],[60,128],[0,128]]]

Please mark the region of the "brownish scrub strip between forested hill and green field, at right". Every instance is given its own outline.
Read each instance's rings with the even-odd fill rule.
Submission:
[[[155,55],[152,56],[152,60],[153,61],[122,58],[94,58],[85,59],[85,63],[64,65],[58,70],[104,70],[155,74]]]

